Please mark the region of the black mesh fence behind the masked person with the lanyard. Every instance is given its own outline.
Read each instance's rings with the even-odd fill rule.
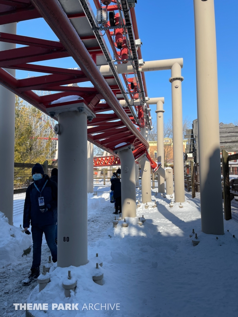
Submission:
[[[33,182],[31,169],[35,164],[14,163],[13,217],[23,214],[27,187]],[[43,166],[43,165],[42,165]],[[48,175],[57,165],[48,165]]]

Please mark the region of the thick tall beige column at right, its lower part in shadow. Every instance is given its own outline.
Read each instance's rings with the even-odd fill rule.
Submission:
[[[202,231],[222,235],[224,225],[214,1],[194,0],[194,16]]]

